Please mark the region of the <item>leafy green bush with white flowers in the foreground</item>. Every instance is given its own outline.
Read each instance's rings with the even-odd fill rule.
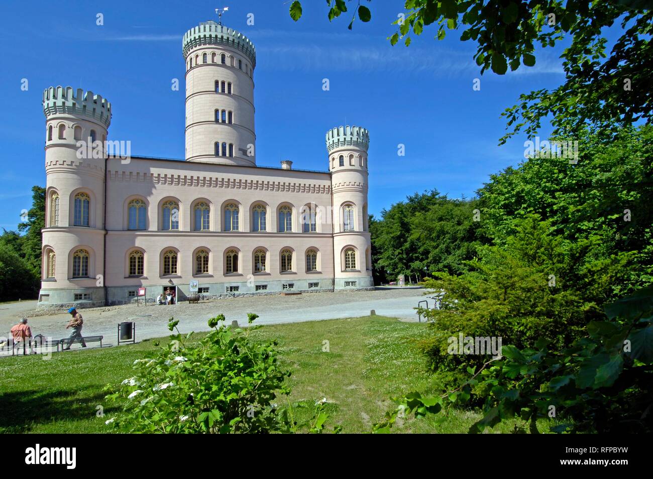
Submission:
[[[249,323],[258,317],[247,316]],[[125,411],[107,425],[126,433],[295,432],[274,405],[290,392],[276,342],[251,342],[251,328],[227,327],[224,320],[222,314],[210,319],[212,331],[187,344],[193,333],[182,336],[171,318],[168,328],[177,334],[151,357],[137,359],[133,377],[107,396]]]

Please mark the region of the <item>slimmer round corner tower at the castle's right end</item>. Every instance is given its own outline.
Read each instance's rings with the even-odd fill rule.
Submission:
[[[327,131],[333,198],[334,288],[372,288],[368,229],[370,133],[357,126]]]

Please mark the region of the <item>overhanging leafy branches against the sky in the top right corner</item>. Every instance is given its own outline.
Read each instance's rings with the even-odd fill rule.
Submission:
[[[408,46],[411,34],[421,35],[425,27],[438,25],[435,37],[444,39],[447,30],[460,30],[461,41],[477,44],[474,59],[481,73],[491,69],[505,74],[522,64],[533,67],[535,47],[549,48],[569,42],[562,59],[565,82],[554,90],[537,90],[520,95],[517,105],[503,113],[512,127],[500,142],[518,131],[532,136],[541,122],[551,116],[555,132],[568,135],[590,123],[604,131],[614,125],[629,125],[653,118],[653,33],[652,2],[649,0],[406,0],[405,18],[392,18],[398,31],[389,37]],[[360,5],[360,2],[358,2]],[[328,18],[347,12],[344,0],[327,0]],[[398,7],[400,7],[398,5]],[[365,8],[361,14],[360,8]],[[398,10],[400,11],[400,10]],[[298,20],[301,3],[291,5],[291,17]],[[370,20],[367,7],[356,16]],[[620,25],[622,34],[608,50],[605,34]]]

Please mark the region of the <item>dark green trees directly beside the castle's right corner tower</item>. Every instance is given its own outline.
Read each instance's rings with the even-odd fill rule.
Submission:
[[[372,263],[379,278],[399,274],[420,280],[435,271],[461,273],[479,244],[475,202],[449,199],[438,191],[415,193],[370,222]]]

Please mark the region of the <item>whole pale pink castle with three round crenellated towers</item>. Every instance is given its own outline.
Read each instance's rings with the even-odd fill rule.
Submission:
[[[185,160],[116,155],[109,101],[44,91],[39,305],[373,288],[368,131],[330,129],[327,171],[257,167],[252,42],[209,21],[182,45]]]

